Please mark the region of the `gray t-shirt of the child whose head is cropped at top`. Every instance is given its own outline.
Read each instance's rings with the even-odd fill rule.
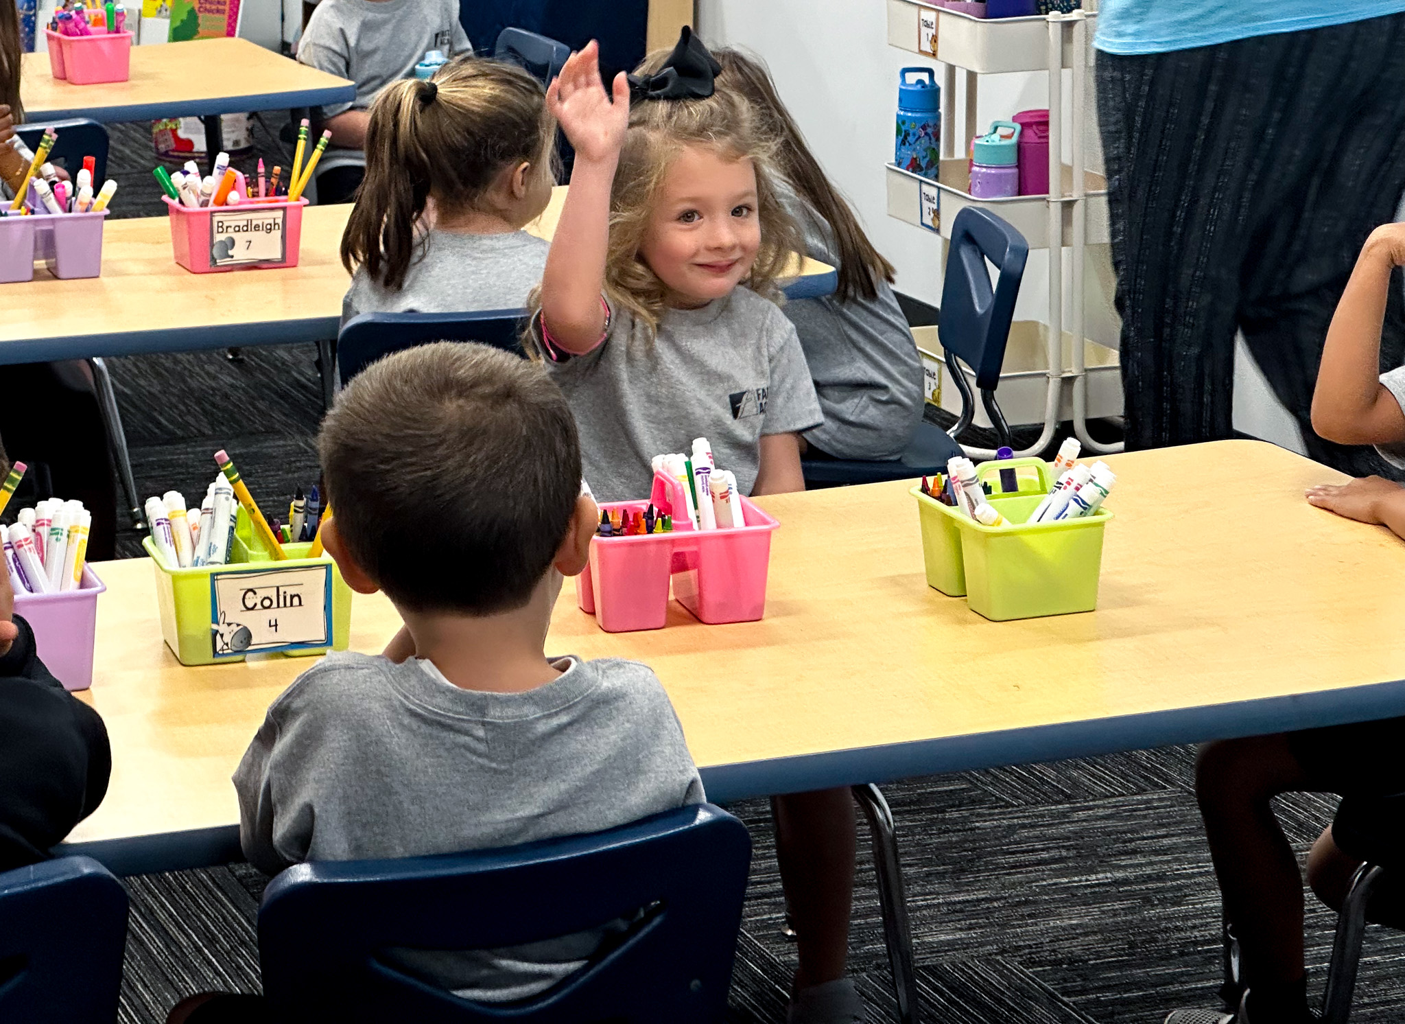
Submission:
[[[351,79],[355,100],[322,108],[322,118],[370,110],[377,94],[414,73],[427,51],[472,53],[458,0],[322,0],[308,18],[298,60]]]

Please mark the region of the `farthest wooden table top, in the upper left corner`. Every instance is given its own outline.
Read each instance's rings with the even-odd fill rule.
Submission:
[[[104,124],[167,117],[320,107],[355,98],[355,83],[299,65],[249,39],[132,46],[131,77],[101,86],[55,79],[48,53],[21,59],[20,97],[30,121]]]

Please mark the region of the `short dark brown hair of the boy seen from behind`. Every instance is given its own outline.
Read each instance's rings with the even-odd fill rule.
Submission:
[[[398,604],[520,608],[580,494],[580,441],[537,364],[436,341],[368,367],[322,423],[318,452],[347,551]]]

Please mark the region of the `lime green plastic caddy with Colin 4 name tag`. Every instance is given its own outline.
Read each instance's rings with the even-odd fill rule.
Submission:
[[[181,664],[242,662],[246,655],[320,655],[346,650],[351,589],[311,544],[285,544],[274,560],[240,507],[233,553],[225,565],[177,569],[142,541],[156,572],[162,635]]]

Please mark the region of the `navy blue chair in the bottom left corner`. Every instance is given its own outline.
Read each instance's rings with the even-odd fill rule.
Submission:
[[[126,889],[90,857],[0,874],[0,1020],[111,1024]]]

